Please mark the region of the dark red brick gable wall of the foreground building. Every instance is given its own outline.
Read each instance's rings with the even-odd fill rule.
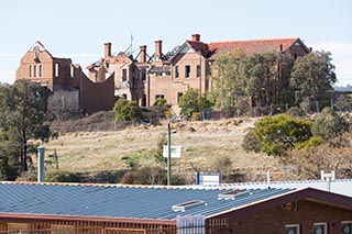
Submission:
[[[341,222],[352,221],[352,211],[312,201],[298,201],[298,211],[282,207],[239,219],[226,215],[232,233],[285,233],[285,225],[299,224],[300,233],[312,233],[314,223],[328,223],[329,234],[341,233]]]

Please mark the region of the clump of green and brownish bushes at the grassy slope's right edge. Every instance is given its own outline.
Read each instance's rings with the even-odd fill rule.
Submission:
[[[295,168],[298,178],[318,179],[320,170],[336,170],[339,178],[352,176],[351,122],[330,108],[310,119],[279,114],[255,123],[243,148],[279,157]]]

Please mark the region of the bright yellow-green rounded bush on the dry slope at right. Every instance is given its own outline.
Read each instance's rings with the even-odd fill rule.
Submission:
[[[294,119],[287,114],[265,116],[255,123],[254,135],[261,144],[261,151],[267,155],[283,156],[297,143],[311,137],[311,123]],[[250,147],[249,147],[250,148]]]

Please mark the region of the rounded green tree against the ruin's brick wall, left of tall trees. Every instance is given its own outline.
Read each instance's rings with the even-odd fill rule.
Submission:
[[[190,116],[194,112],[211,107],[211,102],[205,96],[200,96],[199,90],[188,89],[179,99],[178,107],[182,109],[183,116]]]

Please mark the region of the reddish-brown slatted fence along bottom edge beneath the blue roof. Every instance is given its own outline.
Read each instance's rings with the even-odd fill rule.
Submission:
[[[226,219],[206,225],[177,227],[172,223],[31,222],[0,223],[0,234],[222,234],[230,233]]]

